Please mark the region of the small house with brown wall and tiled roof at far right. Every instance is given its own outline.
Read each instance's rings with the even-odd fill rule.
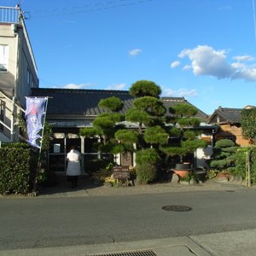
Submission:
[[[246,108],[253,108],[247,106]],[[241,131],[241,111],[242,108],[222,108],[218,107],[207,120],[209,125],[218,125],[218,132],[215,134],[215,139],[224,138],[232,139],[240,146],[250,144],[249,140],[242,136]]]

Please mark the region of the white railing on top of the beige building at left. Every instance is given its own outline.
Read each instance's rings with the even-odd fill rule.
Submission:
[[[20,23],[21,17],[20,8],[0,6],[0,23]]]

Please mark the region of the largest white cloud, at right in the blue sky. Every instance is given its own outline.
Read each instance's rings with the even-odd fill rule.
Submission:
[[[256,67],[248,66],[241,61],[253,61],[250,55],[235,56],[237,62],[227,61],[227,51],[215,50],[208,45],[198,45],[194,49],[183,49],[179,58],[189,58],[190,65],[185,65],[183,70],[192,68],[196,76],[212,76],[217,79],[244,79],[256,81]]]

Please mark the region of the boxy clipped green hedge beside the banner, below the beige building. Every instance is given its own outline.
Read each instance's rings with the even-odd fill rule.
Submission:
[[[29,148],[0,148],[0,194],[26,194],[32,184]]]

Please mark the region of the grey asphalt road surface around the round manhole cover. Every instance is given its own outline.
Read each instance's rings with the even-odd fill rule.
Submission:
[[[2,198],[0,250],[193,236],[256,228],[256,189]],[[188,206],[172,212],[164,206]]]

